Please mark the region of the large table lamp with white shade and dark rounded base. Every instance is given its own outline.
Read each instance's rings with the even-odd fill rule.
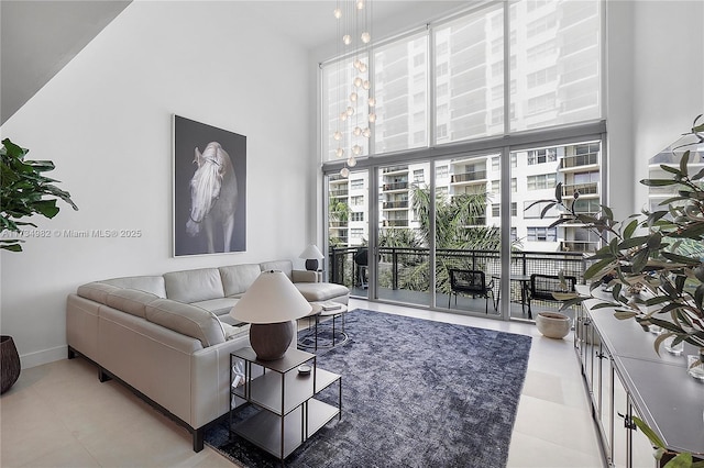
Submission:
[[[234,304],[230,316],[250,323],[250,344],[257,359],[282,358],[296,334],[297,319],[312,307],[282,271],[263,271]]]

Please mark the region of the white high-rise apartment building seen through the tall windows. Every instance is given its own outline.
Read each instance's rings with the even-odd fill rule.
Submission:
[[[430,54],[422,32],[378,47],[373,52],[377,122],[364,152],[389,154],[598,115],[600,8],[600,2],[516,2],[507,10],[497,7],[438,25]],[[505,11],[510,15],[508,34]],[[508,57],[505,41],[510,41]],[[341,76],[345,78],[340,80]],[[331,69],[327,77],[332,127],[334,96],[344,96],[353,78],[344,68]],[[327,155],[334,159],[332,141]],[[436,159],[435,174],[429,161],[380,167],[380,180],[373,182],[380,193],[378,227],[418,229],[411,189],[429,187],[430,177],[439,196],[448,200],[488,193],[484,216],[475,222],[499,226],[499,159],[497,153]],[[504,207],[512,212],[512,238],[530,252],[593,252],[600,242],[595,234],[576,224],[550,227],[560,216],[557,210],[541,218],[543,205],[527,208],[553,198],[556,185],[562,182],[564,199],[574,201],[578,211],[597,212],[601,161],[600,141],[510,153],[510,180],[505,182],[510,183],[510,200]],[[348,179],[329,177],[331,204],[342,201],[346,191],[350,212],[346,224],[333,216],[330,238],[350,246],[369,239],[369,183],[366,170],[354,168]]]

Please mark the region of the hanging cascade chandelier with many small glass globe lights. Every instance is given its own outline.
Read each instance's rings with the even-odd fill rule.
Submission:
[[[338,119],[332,137],[336,156],[344,158],[340,176],[346,178],[356,157],[367,149],[376,121],[372,92],[372,0],[338,0]],[[351,80],[349,79],[351,78]],[[349,85],[351,82],[351,86]]]

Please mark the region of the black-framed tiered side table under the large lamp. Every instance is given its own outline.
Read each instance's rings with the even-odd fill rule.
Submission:
[[[242,386],[234,382],[233,369],[238,363],[244,364]],[[309,372],[299,372],[298,368],[304,365],[310,366]],[[235,383],[230,387],[233,395],[258,410],[233,424],[234,413],[245,405],[231,408],[231,434],[238,434],[282,461],[334,416],[342,419],[342,377],[318,369],[315,354],[289,348],[280,359],[258,360],[252,348],[238,349],[230,354],[230,382]],[[337,408],[314,398],[336,382]]]

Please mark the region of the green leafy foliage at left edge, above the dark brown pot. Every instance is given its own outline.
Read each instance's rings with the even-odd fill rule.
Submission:
[[[78,207],[72,201],[70,194],[56,187],[51,179],[43,175],[54,170],[51,160],[29,160],[24,157],[29,149],[21,148],[9,138],[2,141],[0,147],[0,232],[20,234],[22,226],[36,224],[29,221],[20,221],[33,214],[45,218],[54,218],[59,208],[58,199],[70,204],[74,210]],[[11,252],[22,252],[21,238],[0,238],[0,248]]]

